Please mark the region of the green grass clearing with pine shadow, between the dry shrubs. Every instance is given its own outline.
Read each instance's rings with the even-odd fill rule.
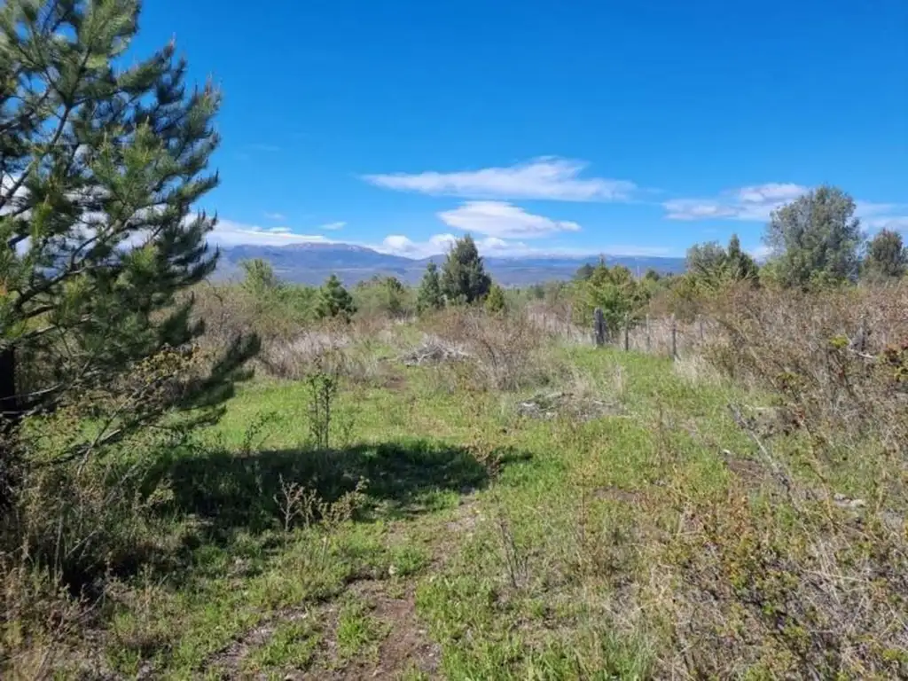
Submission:
[[[173,494],[160,512],[182,548],[170,568],[124,577],[99,635],[105,664],[174,678],[727,670],[708,637],[743,646],[756,616],[735,594],[776,569],[752,565],[747,547],[796,556],[805,541],[792,529],[783,546],[785,504],[721,454],[756,458],[727,404],[761,398],[681,380],[660,358],[558,352],[621,409],[527,419],[515,405],[533,390],[446,390],[433,370],[411,369],[391,389],[346,386],[337,413],[355,424],[350,441],[319,453],[305,446],[304,385],[241,386],[221,423],[162,474]],[[285,527],[287,482],[318,503]],[[711,558],[707,538],[720,536],[739,552],[729,544]],[[721,623],[692,610],[704,627],[693,634],[676,625],[699,607],[676,599],[688,578],[733,594]],[[772,597],[785,600],[786,584],[779,577]],[[746,647],[742,675],[801,668],[791,640],[765,636],[765,649]],[[687,637],[705,637],[702,658],[676,654]]]

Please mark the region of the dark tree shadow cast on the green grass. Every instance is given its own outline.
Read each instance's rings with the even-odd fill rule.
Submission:
[[[492,471],[526,458],[502,450],[480,462],[468,449],[412,440],[335,451],[215,451],[172,459],[161,477],[173,490],[168,513],[204,519],[216,540],[239,529],[259,533],[279,527],[281,487],[290,483],[331,502],[364,479],[367,515],[407,518],[433,508],[439,493],[481,489]]]

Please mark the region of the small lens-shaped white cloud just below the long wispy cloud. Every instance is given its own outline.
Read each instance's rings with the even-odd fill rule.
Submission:
[[[489,236],[538,239],[555,232],[578,232],[577,222],[558,222],[534,215],[511,203],[469,201],[453,211],[439,212],[449,227]]]

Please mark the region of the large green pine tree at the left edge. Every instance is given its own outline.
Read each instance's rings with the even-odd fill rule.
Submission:
[[[206,244],[215,220],[193,205],[218,183],[206,170],[221,96],[212,84],[187,92],[173,44],[127,64],[138,13],[135,0],[0,5],[0,408],[9,429],[70,397],[126,385],[140,360],[185,349],[202,332],[192,298],[178,294],[217,260]],[[162,392],[156,409],[137,408],[107,441],[169,407],[222,400],[256,349],[255,339],[238,340],[207,379]]]

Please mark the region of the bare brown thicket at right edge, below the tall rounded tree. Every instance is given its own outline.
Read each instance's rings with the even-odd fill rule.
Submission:
[[[738,291],[716,301],[706,357],[773,390],[814,451],[908,453],[908,289]]]

